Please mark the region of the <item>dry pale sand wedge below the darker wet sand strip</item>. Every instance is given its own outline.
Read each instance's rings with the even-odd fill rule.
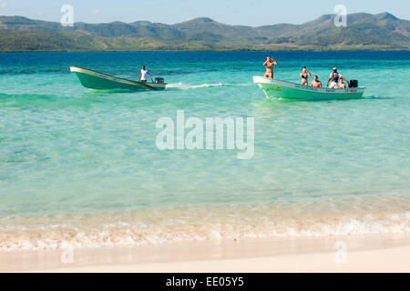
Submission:
[[[314,272],[410,272],[410,246],[354,251],[346,263],[335,263],[333,253],[267,256],[247,259],[152,263],[133,265],[97,265],[32,270],[31,272],[98,273],[314,273]]]

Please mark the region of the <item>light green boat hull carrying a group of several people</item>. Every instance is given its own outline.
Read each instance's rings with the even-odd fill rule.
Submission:
[[[359,99],[364,95],[364,87],[332,89],[318,88],[277,79],[254,76],[253,83],[258,85],[266,97],[296,100],[348,100]]]

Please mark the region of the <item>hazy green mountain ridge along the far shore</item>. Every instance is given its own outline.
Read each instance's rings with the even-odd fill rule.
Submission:
[[[334,17],[259,27],[224,25],[207,17],[176,25],[136,21],[64,27],[23,16],[0,16],[0,51],[410,49],[408,20],[389,13],[359,13],[348,15],[347,27],[336,27]]]

